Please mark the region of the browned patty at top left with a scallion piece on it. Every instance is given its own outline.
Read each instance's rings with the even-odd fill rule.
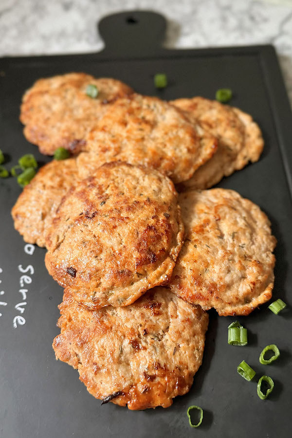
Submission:
[[[95,99],[86,95],[86,87],[96,85]],[[58,147],[78,153],[85,146],[85,135],[119,97],[132,93],[128,85],[116,79],[85,73],[68,73],[39,79],[25,92],[20,108],[24,135],[46,155]]]

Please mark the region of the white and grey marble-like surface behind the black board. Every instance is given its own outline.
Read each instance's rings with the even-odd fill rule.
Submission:
[[[0,56],[101,50],[96,22],[131,9],[167,18],[166,47],[274,44],[292,102],[292,0],[0,0]]]

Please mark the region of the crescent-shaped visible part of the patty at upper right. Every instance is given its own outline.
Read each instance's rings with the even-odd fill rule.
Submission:
[[[249,114],[203,97],[177,99],[172,104],[188,111],[206,132],[218,138],[214,156],[183,183],[184,187],[212,187],[224,176],[242,169],[249,161],[259,159],[264,142],[260,128]]]

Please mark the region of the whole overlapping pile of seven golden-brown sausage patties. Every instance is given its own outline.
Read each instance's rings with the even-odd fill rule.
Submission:
[[[41,152],[73,154],[44,165],[12,211],[65,289],[56,358],[103,403],[169,406],[201,365],[206,310],[247,315],[272,296],[269,219],[206,190],[258,160],[260,129],[216,101],[164,102],[84,73],[38,80],[20,120]]]

